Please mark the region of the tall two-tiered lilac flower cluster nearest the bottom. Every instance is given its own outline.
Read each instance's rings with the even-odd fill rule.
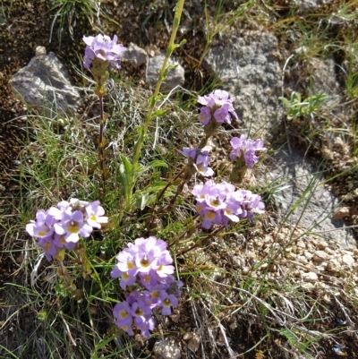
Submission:
[[[166,242],[155,236],[137,238],[116,260],[111,277],[120,278],[124,290],[134,284],[137,287],[124,302],[115,304],[115,324],[129,335],[134,335],[133,327],[140,329],[141,335],[149,338],[149,330],[155,326],[153,310],[161,309],[163,315],[170,315],[171,307],[178,305],[181,295],[178,288],[183,286],[173,276],[175,268]]]

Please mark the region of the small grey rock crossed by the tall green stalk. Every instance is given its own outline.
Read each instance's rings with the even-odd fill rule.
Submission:
[[[159,70],[162,67],[165,55],[160,54],[158,56],[150,57],[147,63],[146,81],[150,86],[155,87],[158,81]],[[184,69],[183,66],[175,62],[173,59],[169,59],[169,64],[176,65],[175,68],[170,69],[166,75],[166,80],[163,81],[160,90],[162,92],[170,92],[175,86],[183,85]]]

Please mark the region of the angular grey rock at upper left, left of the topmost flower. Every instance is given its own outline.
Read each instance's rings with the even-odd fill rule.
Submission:
[[[75,113],[81,105],[81,96],[72,86],[67,69],[52,52],[32,57],[10,83],[30,107],[51,118],[57,112]]]

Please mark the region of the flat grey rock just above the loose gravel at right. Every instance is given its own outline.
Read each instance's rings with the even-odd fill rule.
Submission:
[[[281,192],[281,219],[292,225],[299,223],[322,239],[337,242],[341,248],[357,248],[352,230],[345,229],[342,220],[331,219],[339,201],[327,186],[320,184],[322,175],[310,158],[294,150],[290,154],[285,147],[274,157],[271,177],[283,186],[290,185]],[[311,189],[306,191],[308,187]]]

